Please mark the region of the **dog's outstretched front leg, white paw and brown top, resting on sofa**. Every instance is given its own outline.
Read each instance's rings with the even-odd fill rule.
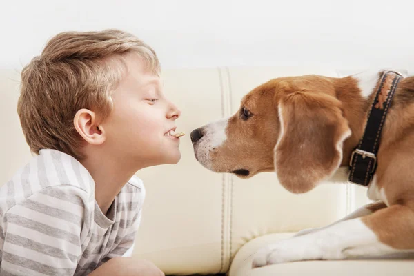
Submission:
[[[414,253],[414,212],[393,205],[362,218],[338,222],[257,251],[253,267],[311,259],[358,259]]]

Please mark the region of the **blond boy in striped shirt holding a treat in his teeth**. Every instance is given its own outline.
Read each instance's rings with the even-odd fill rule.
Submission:
[[[21,73],[35,156],[0,188],[0,275],[164,275],[123,256],[145,197],[141,168],[176,164],[177,107],[159,61],[126,32],[64,32]]]

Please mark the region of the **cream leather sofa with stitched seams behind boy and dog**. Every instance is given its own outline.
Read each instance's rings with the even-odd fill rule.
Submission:
[[[298,230],[325,226],[368,202],[365,188],[323,184],[293,195],[273,173],[252,179],[210,172],[197,163],[191,130],[232,115],[250,89],[274,77],[352,71],[324,68],[205,68],[164,70],[165,92],[182,110],[177,130],[182,159],[137,173],[146,185],[141,228],[133,255],[150,259],[166,274],[414,275],[411,260],[294,262],[252,270],[252,255],[268,242]],[[0,183],[29,158],[16,113],[19,74],[0,70]]]

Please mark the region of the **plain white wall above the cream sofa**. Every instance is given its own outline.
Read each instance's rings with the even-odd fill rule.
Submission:
[[[2,0],[0,66],[20,70],[64,30],[121,28],[164,68],[410,67],[412,0]]]

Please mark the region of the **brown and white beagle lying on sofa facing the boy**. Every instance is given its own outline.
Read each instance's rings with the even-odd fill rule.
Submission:
[[[195,157],[204,167],[242,178],[275,171],[291,193],[306,193],[324,181],[346,182],[355,170],[353,157],[369,159],[362,182],[372,204],[330,226],[261,248],[253,268],[414,252],[414,77],[393,86],[400,74],[384,79],[385,74],[272,79],[248,92],[235,115],[191,132]],[[386,117],[378,122],[382,132],[373,155],[356,148],[375,112]]]

